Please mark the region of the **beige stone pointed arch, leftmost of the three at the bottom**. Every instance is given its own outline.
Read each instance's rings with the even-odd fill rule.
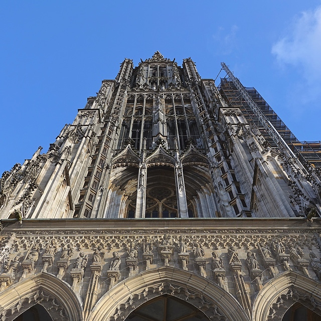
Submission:
[[[83,319],[79,298],[70,286],[50,273],[41,272],[0,293],[0,320],[12,321],[37,303],[46,308],[52,319]]]

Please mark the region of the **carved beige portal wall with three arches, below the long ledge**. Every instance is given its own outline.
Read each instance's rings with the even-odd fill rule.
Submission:
[[[295,221],[299,222],[300,220],[296,219]],[[320,229],[312,228],[308,232],[304,226],[294,229],[281,229],[280,226],[271,224],[270,228],[257,227],[246,230],[234,228],[231,229],[233,230],[233,233],[231,233],[229,228],[218,226],[211,228],[209,224],[209,228],[206,229],[198,227],[188,229],[184,226],[180,229],[176,228],[175,225],[165,229],[162,226],[163,224],[159,222],[162,221],[157,221],[158,228],[149,230],[141,230],[137,225],[130,230],[123,230],[122,224],[119,223],[119,226],[113,229],[100,228],[97,230],[94,226],[92,226],[92,229],[88,226],[86,230],[60,228],[58,233],[57,229],[55,233],[52,233],[52,229],[49,230],[48,228],[35,229],[36,222],[34,222],[33,228],[30,228],[31,225],[28,226],[26,222],[24,223],[27,224],[25,228],[23,226],[12,226],[10,229],[4,230],[3,233],[6,234],[1,237],[1,244],[11,244],[11,246],[9,254],[4,254],[6,257],[2,256],[3,267],[0,282],[2,282],[3,292],[0,293],[0,296],[4,298],[2,302],[5,302],[2,304],[2,318],[14,320],[18,315],[17,313],[21,313],[23,308],[26,310],[39,303],[45,307],[47,305],[57,306],[56,314],[50,312],[51,315],[57,315],[54,319],[72,320],[74,318],[70,316],[71,310],[75,309],[78,313],[85,313],[80,306],[83,304],[82,301],[86,301],[87,303],[83,308],[87,312],[81,316],[84,320],[98,321],[108,317],[110,321],[119,321],[123,320],[138,305],[164,294],[174,295],[186,300],[200,308],[210,319],[229,319],[232,321],[234,319],[247,320],[252,317],[253,320],[261,321],[268,317],[278,320],[294,302],[300,302],[315,313],[321,314],[319,308],[321,297],[311,294],[312,290],[301,286],[302,282],[309,284],[310,287],[316,286],[320,288],[321,293],[321,285],[315,281],[317,280],[315,266],[312,268],[309,265],[309,253],[311,251],[316,253],[317,257],[319,256]],[[68,222],[66,223],[65,226],[68,225]],[[73,224],[75,224],[75,221],[73,221]],[[170,237],[172,242],[168,247],[171,252],[168,266],[164,266],[167,264],[164,263],[162,256],[162,253],[166,250],[166,246],[162,245],[165,235]],[[182,235],[184,235],[186,244],[186,253],[184,254],[189,256],[185,266],[182,264],[178,248]],[[147,258],[143,252],[146,237],[149,238],[150,253],[153,255],[152,260],[148,259],[148,267],[146,264]],[[284,245],[285,253],[283,254],[289,257],[288,265],[284,265],[283,261],[278,261],[277,254],[273,250],[275,242],[281,242]],[[135,244],[137,251],[137,257],[134,258],[130,258],[128,254],[131,243]],[[39,245],[40,249],[36,262],[30,259],[34,244]],[[56,251],[53,251],[50,263],[48,263],[47,256],[50,254],[48,248],[52,247],[53,244]],[[290,253],[293,244],[295,248],[302,249],[301,261],[304,261],[303,265],[300,263],[301,261],[287,254]],[[193,252],[196,246],[204,251],[202,256],[204,268],[202,271],[196,262],[199,258]],[[229,267],[228,250],[231,247],[234,247],[238,253],[239,272],[236,272],[234,266]],[[264,257],[261,251],[262,247],[270,250],[271,257]],[[66,248],[71,249],[71,256],[64,259],[61,258],[61,254]],[[102,259],[100,262],[96,262],[93,258],[93,254],[97,250],[101,253]],[[222,280],[220,279],[221,274],[212,270],[213,250],[224,262],[222,271],[220,271],[221,274],[225,274],[224,277],[222,276]],[[110,264],[115,251],[121,264],[117,267],[117,270],[111,271]],[[253,271],[248,269],[246,259],[249,252],[256,255],[259,265],[257,271],[260,269],[260,275],[255,275],[255,277],[262,280],[263,287],[258,288],[260,283],[255,278],[253,279]],[[88,262],[86,261],[86,265],[81,267],[76,275],[74,265],[77,258],[80,257],[80,253],[83,253],[83,257],[86,257]],[[10,268],[10,262],[17,260],[17,256],[19,257],[18,267]],[[46,259],[44,256],[46,256]],[[130,259],[135,260],[135,269],[130,270],[130,265],[127,264],[127,260]],[[28,260],[30,263],[28,263]],[[46,268],[44,268],[45,264]],[[263,266],[267,268],[264,269]],[[274,271],[272,273],[271,268]],[[163,276],[162,271],[165,273]],[[240,273],[240,277],[235,277],[235,273]],[[74,281],[73,275],[75,275],[76,281]],[[182,277],[186,279],[183,280]],[[222,296],[228,296],[230,300],[233,299],[234,303],[229,304],[239,306],[237,313],[242,312],[244,314],[242,318],[224,315],[223,311],[226,311],[227,307],[220,305],[220,299],[215,298],[212,292],[205,295],[205,292],[200,288],[202,287],[201,281],[214,286],[215,291],[222,292]],[[34,286],[31,286],[30,282]],[[48,282],[51,284],[50,286],[48,286]],[[120,297],[115,299],[114,295],[119,296],[119,291],[125,291],[125,289],[128,291],[128,286],[137,284],[137,282],[143,282],[143,286],[139,289],[132,288],[129,292],[124,292],[121,300]],[[242,306],[242,298],[236,295],[232,285],[233,282],[241,282],[239,286],[243,288],[243,295],[249,295],[251,300],[254,300],[252,312]],[[63,295],[61,295],[62,284],[65,288],[65,294]],[[282,286],[283,289],[275,295],[273,289]],[[58,287],[59,292],[55,290]],[[23,291],[23,294],[18,298],[14,297],[16,291],[20,291],[20,288],[32,288],[33,290]],[[90,300],[86,299],[89,295],[88,291],[96,293],[94,296],[90,296]],[[270,292],[273,295],[271,294],[269,298],[268,293]],[[57,297],[57,293],[59,293],[59,297]],[[109,299],[112,299],[113,302],[116,300],[118,303],[113,310],[104,310],[101,305],[106,306]],[[65,302],[70,300],[73,302],[72,306],[66,307]],[[123,303],[120,304],[120,302]],[[307,304],[307,302],[310,302],[310,304]],[[112,306],[110,304],[107,305]],[[22,307],[20,308],[20,306]],[[258,313],[258,310],[265,311],[264,315]],[[58,311],[59,315],[57,314]]]

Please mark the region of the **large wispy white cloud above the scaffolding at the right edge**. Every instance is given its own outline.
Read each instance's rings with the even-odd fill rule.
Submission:
[[[281,64],[298,67],[308,82],[321,79],[321,7],[302,12],[287,35],[272,46]]]

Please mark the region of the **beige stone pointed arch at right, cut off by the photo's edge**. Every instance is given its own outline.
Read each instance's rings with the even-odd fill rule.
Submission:
[[[299,273],[286,271],[269,280],[257,294],[252,319],[281,321],[295,302],[321,315],[321,284]]]

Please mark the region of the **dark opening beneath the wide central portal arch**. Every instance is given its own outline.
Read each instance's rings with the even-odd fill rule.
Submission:
[[[125,321],[209,321],[197,307],[172,295],[162,295],[137,307]]]

